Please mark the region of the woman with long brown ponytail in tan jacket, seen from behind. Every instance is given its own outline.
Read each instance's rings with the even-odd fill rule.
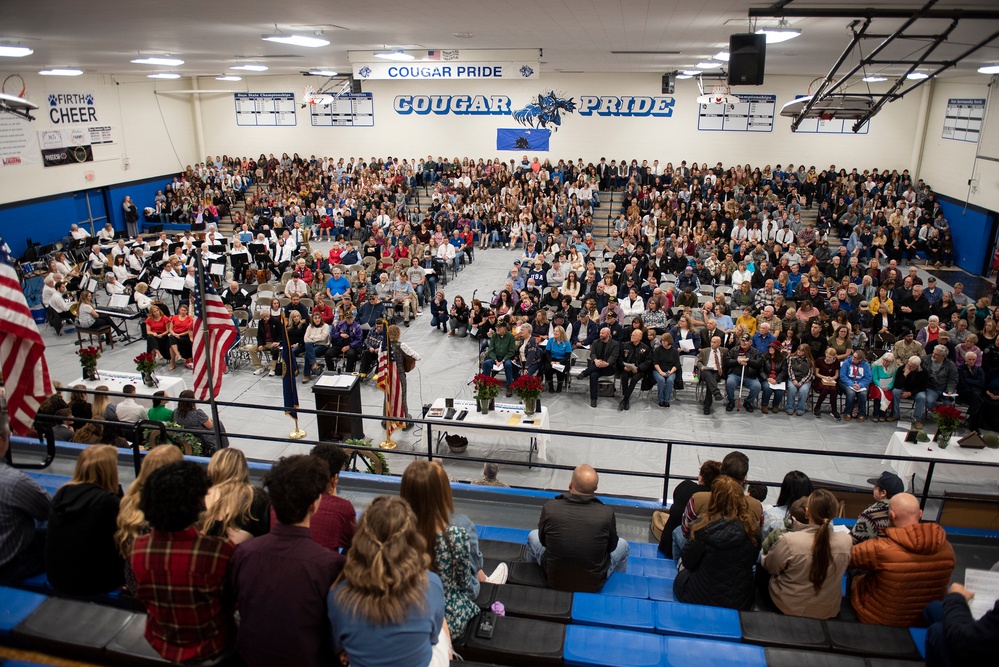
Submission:
[[[853,543],[847,533],[833,530],[838,513],[831,491],[813,491],[805,506],[808,525],[785,532],[764,555],[756,572],[765,585],[757,590],[781,612],[822,619],[839,614],[840,583]]]

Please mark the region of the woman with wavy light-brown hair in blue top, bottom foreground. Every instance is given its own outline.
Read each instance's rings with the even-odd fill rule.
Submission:
[[[358,667],[445,667],[451,639],[444,587],[416,516],[402,498],[375,498],[327,596],[333,649]]]

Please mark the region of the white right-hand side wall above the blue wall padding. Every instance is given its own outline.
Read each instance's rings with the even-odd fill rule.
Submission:
[[[985,76],[952,81],[944,79],[933,83],[919,176],[941,194],[999,211],[999,163],[976,161],[976,144],[941,136],[948,99],[987,99],[988,96],[988,77]],[[999,97],[993,96],[991,102],[996,104]],[[999,112],[993,109],[993,116],[999,116]],[[989,131],[999,132],[999,118],[991,124]],[[977,191],[969,193],[968,179],[973,176],[978,177],[979,184]]]

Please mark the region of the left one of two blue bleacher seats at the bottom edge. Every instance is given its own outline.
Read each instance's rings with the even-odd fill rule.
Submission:
[[[660,667],[663,641],[643,632],[570,625],[564,657],[573,667]]]

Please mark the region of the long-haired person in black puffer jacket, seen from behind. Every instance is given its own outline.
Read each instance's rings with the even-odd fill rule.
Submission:
[[[708,511],[691,527],[680,557],[680,571],[673,581],[676,600],[752,609],[759,528],[739,482],[718,477],[711,485]]]

